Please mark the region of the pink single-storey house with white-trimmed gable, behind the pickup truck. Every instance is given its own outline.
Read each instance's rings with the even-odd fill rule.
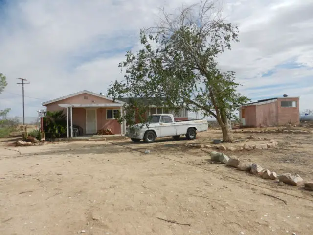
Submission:
[[[122,99],[123,100],[123,99]],[[126,101],[127,99],[124,99]],[[80,126],[83,135],[96,134],[100,129],[111,129],[113,134],[124,135],[126,122],[118,123],[118,114],[124,114],[125,102],[114,100],[102,94],[81,91],[42,103],[47,111],[63,110],[67,115],[67,137],[73,137],[73,125]],[[150,106],[146,116],[157,113],[173,113],[166,107]],[[174,114],[175,120],[187,120],[188,111],[182,108]],[[134,112],[134,120],[137,121]]]

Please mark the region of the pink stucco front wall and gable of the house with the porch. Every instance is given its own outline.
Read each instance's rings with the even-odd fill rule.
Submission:
[[[88,96],[88,99],[84,99],[84,96]],[[94,101],[94,102],[92,102]],[[63,110],[63,113],[67,115],[67,109],[61,108],[59,104],[103,104],[114,103],[111,100],[97,97],[90,94],[80,94],[67,99],[63,99],[51,104],[46,105],[47,111]],[[120,107],[110,107],[110,109],[120,109]],[[83,128],[83,134],[86,134],[86,108],[73,108],[73,125],[78,125]],[[113,134],[121,134],[121,125],[117,120],[106,119],[106,108],[97,108],[97,130],[101,128],[111,129]]]

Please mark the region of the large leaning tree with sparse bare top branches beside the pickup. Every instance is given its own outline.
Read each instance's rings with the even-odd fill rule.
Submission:
[[[113,82],[108,95],[164,97],[170,108],[201,110],[217,119],[223,141],[232,142],[229,120],[248,98],[236,92],[235,73],[221,71],[217,56],[238,42],[237,26],[227,23],[211,0],[182,7],[178,14],[161,12],[159,24],[140,31],[141,49],[127,52],[119,64],[125,79]]]

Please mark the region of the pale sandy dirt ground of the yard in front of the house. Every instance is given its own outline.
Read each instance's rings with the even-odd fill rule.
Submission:
[[[251,134],[234,135],[249,141]],[[278,146],[224,153],[313,181],[313,134],[252,135]],[[193,141],[123,138],[31,147],[2,140],[0,234],[312,235],[312,192],[222,164],[194,164],[212,150],[184,144],[221,137],[211,130]]]

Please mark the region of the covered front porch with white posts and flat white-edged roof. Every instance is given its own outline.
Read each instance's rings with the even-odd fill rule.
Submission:
[[[124,135],[126,132],[125,121],[120,124],[115,119],[119,114],[124,115],[123,104],[59,104],[59,107],[66,109],[67,138],[74,137],[73,126],[82,128],[80,138],[84,139],[89,139],[102,129],[111,129],[114,135]]]

